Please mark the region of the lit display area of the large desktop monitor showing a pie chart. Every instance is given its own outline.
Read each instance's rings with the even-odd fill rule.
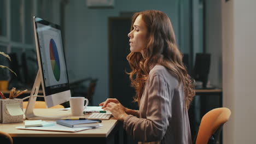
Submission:
[[[50,95],[69,88],[61,30],[40,21],[36,24],[45,94]]]

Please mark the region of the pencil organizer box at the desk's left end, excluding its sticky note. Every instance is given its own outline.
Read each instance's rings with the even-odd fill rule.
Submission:
[[[23,122],[23,114],[18,116],[11,116],[7,110],[6,104],[20,104],[23,110],[22,99],[0,99],[0,123],[16,123]]]

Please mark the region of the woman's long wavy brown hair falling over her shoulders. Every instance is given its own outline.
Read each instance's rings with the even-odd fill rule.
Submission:
[[[127,74],[130,75],[131,86],[136,91],[136,96],[133,98],[134,101],[139,105],[150,67],[160,64],[176,77],[179,85],[183,84],[185,92],[184,104],[185,108],[189,109],[189,104],[195,95],[194,80],[190,80],[187,68],[182,62],[183,54],[176,45],[170,19],[165,13],[158,10],[135,13],[132,16],[131,31],[138,15],[141,15],[142,20],[146,23],[148,41],[147,45],[142,48],[142,52],[131,52],[127,56],[127,61],[131,67],[131,72]]]

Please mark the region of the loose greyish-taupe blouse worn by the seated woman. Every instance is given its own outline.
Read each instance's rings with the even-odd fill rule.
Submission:
[[[123,127],[139,143],[192,143],[182,85],[162,65],[150,70],[138,112]]]

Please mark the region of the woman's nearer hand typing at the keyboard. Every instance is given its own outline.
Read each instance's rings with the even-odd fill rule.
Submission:
[[[117,103],[110,102],[105,106],[104,110],[110,111],[115,118],[117,118],[119,121],[122,121],[122,122],[128,116],[125,113],[125,107],[120,103],[117,104]]]

